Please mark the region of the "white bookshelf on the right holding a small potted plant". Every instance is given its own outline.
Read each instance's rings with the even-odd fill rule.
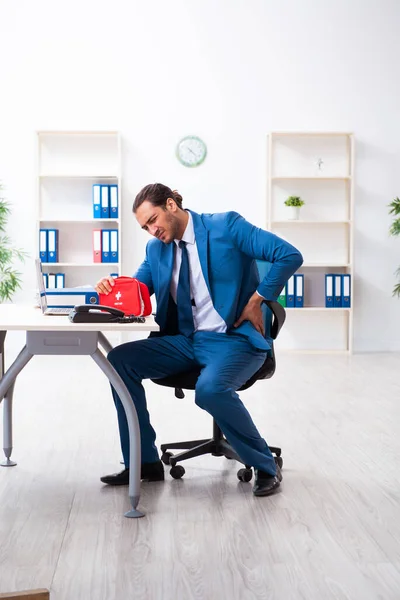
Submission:
[[[322,159],[322,163],[321,160]],[[267,229],[304,263],[304,308],[287,308],[277,347],[351,352],[353,340],[354,139],[346,132],[273,132],[268,152]],[[299,220],[284,201],[300,196]],[[325,307],[325,274],[351,275],[351,307]]]

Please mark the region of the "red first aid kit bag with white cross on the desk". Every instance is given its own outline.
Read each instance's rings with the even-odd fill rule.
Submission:
[[[133,277],[116,277],[112,292],[99,294],[99,304],[122,310],[125,315],[147,317],[151,314],[149,289]]]

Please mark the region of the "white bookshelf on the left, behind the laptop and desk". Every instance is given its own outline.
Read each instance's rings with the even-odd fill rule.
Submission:
[[[65,273],[65,286],[94,285],[122,273],[121,140],[117,131],[37,132],[37,253],[39,229],[59,231],[57,263],[45,273]],[[118,218],[93,218],[93,184],[118,185]],[[118,263],[93,262],[93,230],[118,229]]]

